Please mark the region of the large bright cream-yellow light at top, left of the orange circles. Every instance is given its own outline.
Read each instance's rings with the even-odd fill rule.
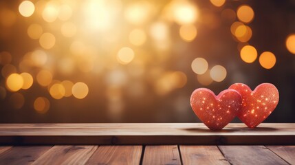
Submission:
[[[193,3],[189,1],[177,1],[173,5],[173,17],[180,25],[195,23],[198,12]]]

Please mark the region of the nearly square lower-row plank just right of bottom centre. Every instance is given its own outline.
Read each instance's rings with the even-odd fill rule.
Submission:
[[[146,146],[144,150],[144,158],[142,164],[181,164],[178,147],[176,145]]]

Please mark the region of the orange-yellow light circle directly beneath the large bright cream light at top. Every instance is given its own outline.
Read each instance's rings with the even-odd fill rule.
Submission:
[[[197,28],[195,25],[182,25],[179,29],[180,37],[186,42],[193,41],[197,36]]]

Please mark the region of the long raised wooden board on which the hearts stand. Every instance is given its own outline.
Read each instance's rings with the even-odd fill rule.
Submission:
[[[0,144],[295,144],[295,124],[228,124],[210,131],[201,123],[0,124]]]

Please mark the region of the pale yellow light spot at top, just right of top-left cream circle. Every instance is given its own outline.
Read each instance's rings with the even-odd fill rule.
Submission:
[[[44,21],[52,23],[58,17],[58,3],[57,1],[49,1],[46,3],[42,12]]]

